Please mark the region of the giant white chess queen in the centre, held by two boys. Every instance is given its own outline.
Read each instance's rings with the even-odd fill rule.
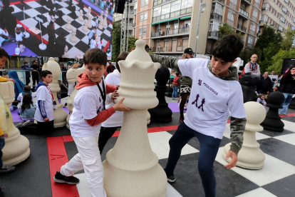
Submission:
[[[155,73],[159,63],[153,63],[145,51],[145,41],[135,42],[136,49],[125,61],[119,61],[122,81],[120,101],[131,111],[125,111],[120,136],[103,161],[103,183],[108,197],[165,197],[167,176],[150,147],[147,131],[147,110],[158,104]]]

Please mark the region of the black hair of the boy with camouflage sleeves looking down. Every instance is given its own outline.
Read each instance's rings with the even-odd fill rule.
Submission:
[[[243,48],[244,43],[239,36],[229,34],[217,41],[212,54],[215,58],[222,59],[225,62],[232,62],[239,56]]]

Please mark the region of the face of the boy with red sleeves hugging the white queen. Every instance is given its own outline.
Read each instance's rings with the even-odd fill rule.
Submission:
[[[88,79],[93,82],[99,82],[105,72],[105,66],[98,63],[86,64],[86,74]]]

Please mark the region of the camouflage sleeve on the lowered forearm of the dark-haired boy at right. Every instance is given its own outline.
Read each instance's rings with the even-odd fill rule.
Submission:
[[[238,154],[239,150],[241,150],[246,122],[246,118],[230,118],[230,141],[232,144],[230,145],[229,151]]]

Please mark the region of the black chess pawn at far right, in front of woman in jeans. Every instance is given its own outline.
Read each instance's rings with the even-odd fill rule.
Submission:
[[[273,91],[267,96],[269,103],[267,103],[266,106],[269,107],[269,111],[267,111],[266,117],[261,123],[264,129],[278,132],[284,131],[285,125],[279,116],[279,108],[283,108],[281,103],[284,102],[284,99],[284,94],[279,91]]]

